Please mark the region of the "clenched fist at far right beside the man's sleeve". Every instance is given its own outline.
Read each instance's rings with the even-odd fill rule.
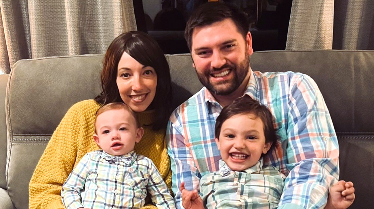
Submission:
[[[355,200],[353,183],[343,180],[331,187],[325,209],[346,209]]]

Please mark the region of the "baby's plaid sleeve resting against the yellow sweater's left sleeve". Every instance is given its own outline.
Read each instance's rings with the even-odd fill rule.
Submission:
[[[84,188],[86,183],[89,160],[90,156],[88,154],[83,156],[62,185],[62,203],[64,203],[64,206],[67,209],[84,208],[81,202],[80,191]]]

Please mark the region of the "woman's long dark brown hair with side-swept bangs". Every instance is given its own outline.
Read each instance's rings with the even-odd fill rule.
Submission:
[[[126,52],[144,66],[153,67],[157,74],[156,95],[150,107],[156,110],[156,121],[151,124],[153,130],[166,127],[171,113],[172,86],[168,61],[157,42],[140,31],[130,31],[119,35],[111,42],[104,56],[101,71],[102,92],[95,97],[101,105],[111,102],[123,102],[117,86],[118,63]]]

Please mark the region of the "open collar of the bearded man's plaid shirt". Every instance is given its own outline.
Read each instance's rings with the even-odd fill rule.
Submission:
[[[249,96],[251,96],[251,98],[259,101],[260,98],[258,97],[256,92],[258,92],[258,88],[260,88],[260,86],[258,86],[258,81],[255,79],[256,75],[252,71],[251,67],[249,67],[249,72],[248,73],[251,73],[251,76],[249,76],[249,81],[248,81],[248,84],[247,84],[247,90],[244,92],[243,96],[244,95],[249,95]],[[213,94],[205,86],[204,86],[204,98],[205,98],[205,103],[206,103],[207,108],[209,108],[209,104],[220,105],[217,102],[217,100],[214,98]]]

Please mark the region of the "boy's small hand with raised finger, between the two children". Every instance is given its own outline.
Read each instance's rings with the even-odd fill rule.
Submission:
[[[204,209],[203,200],[197,194],[197,190],[188,191],[184,188],[184,182],[181,183],[182,205],[184,209]]]

